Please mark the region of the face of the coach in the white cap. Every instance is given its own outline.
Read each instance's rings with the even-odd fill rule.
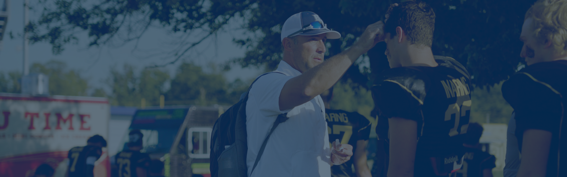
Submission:
[[[295,69],[304,73],[308,69],[323,63],[327,51],[327,47],[325,47],[327,33],[311,36],[298,35],[296,37],[297,44],[291,43]]]

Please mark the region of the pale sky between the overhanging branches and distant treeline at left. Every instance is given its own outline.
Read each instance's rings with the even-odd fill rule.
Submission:
[[[29,1],[32,7],[37,3],[37,0]],[[0,3],[2,2],[3,0],[0,0]],[[23,70],[23,37],[20,37],[24,26],[23,1],[11,0],[9,6],[10,15],[6,26],[6,35],[2,41],[2,48],[0,48],[0,72],[3,73]],[[29,10],[30,20],[38,19],[40,15],[41,11]],[[203,41],[191,50],[189,57],[184,58],[184,60],[206,68],[211,63],[222,64],[232,58],[243,57],[246,49],[232,43],[233,36],[240,37],[245,32],[243,29],[238,29],[241,24],[242,21],[233,20],[217,36]],[[10,39],[9,32],[14,34],[14,39]],[[146,66],[171,62],[173,58],[163,58],[163,54],[159,55],[159,53],[168,53],[172,48],[175,48],[175,43],[180,42],[180,36],[180,33],[170,33],[165,28],[154,26],[150,27],[139,41],[131,41],[123,45],[120,45],[117,41],[114,45],[88,48],[88,35],[83,32],[77,36],[79,38],[78,44],[65,45],[65,50],[58,55],[52,53],[52,47],[47,42],[29,44],[28,62],[31,66],[36,62],[63,61],[67,64],[68,69],[77,70],[82,77],[87,78],[91,88],[105,87],[109,91],[104,80],[109,77],[109,71],[112,67],[121,68],[124,64],[130,64],[139,70]],[[199,36],[197,35],[193,39],[197,39],[197,37]],[[156,56],[156,54],[158,55]],[[181,62],[167,65],[164,69],[168,70],[173,77]],[[255,78],[262,71],[262,69],[241,68],[238,65],[232,65],[231,70],[225,73],[225,77],[229,82],[237,78],[248,80]]]

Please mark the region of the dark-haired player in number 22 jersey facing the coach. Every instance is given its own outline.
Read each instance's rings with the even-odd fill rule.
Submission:
[[[386,18],[391,69],[372,90],[378,117],[388,120],[388,176],[455,175],[471,110],[470,75],[453,58],[433,56],[435,13],[425,2],[393,4]]]

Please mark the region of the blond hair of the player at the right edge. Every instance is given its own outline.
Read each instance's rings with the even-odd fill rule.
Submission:
[[[567,0],[539,0],[526,12],[524,20],[534,19],[534,35],[540,41],[551,40],[553,47],[567,50]]]

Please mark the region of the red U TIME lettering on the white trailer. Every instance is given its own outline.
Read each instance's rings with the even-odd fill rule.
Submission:
[[[4,111],[2,112],[4,121],[3,124],[0,124],[0,130],[2,129],[6,129],[8,128],[8,125],[10,124],[10,118],[14,118],[13,116],[10,117],[11,113],[8,111]],[[46,112],[43,113],[43,115],[40,117],[40,113],[33,113],[33,112],[26,112],[24,113],[24,119],[29,120],[29,126],[28,129],[32,130],[32,129],[36,129],[34,122],[37,123],[37,121],[35,120],[39,120],[42,121],[42,119],[40,118],[44,118],[43,121],[45,123],[43,129],[44,130],[49,130],[52,129],[51,125],[49,124],[49,120],[50,118],[56,118],[57,119],[57,124],[55,126],[54,129],[56,130],[62,130],[62,129],[68,129],[68,130],[74,130],[75,128],[73,128],[73,117],[74,114],[70,113],[67,116],[63,116],[61,115],[61,113],[55,113],[54,116],[51,116],[52,113]],[[91,119],[91,115],[78,115],[79,117],[79,121],[81,122],[79,130],[91,130],[91,127],[86,125],[86,123],[88,123],[88,120]],[[1,118],[0,118],[1,119]],[[2,122],[2,121],[0,121]],[[65,126],[68,125],[68,126]]]

